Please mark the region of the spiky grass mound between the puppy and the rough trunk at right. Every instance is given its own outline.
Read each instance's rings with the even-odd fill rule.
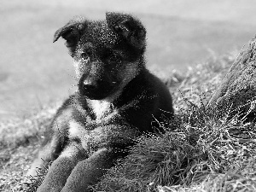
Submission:
[[[175,88],[175,131],[139,138],[96,191],[255,191],[255,125],[206,108],[234,60],[213,58],[190,70]]]

